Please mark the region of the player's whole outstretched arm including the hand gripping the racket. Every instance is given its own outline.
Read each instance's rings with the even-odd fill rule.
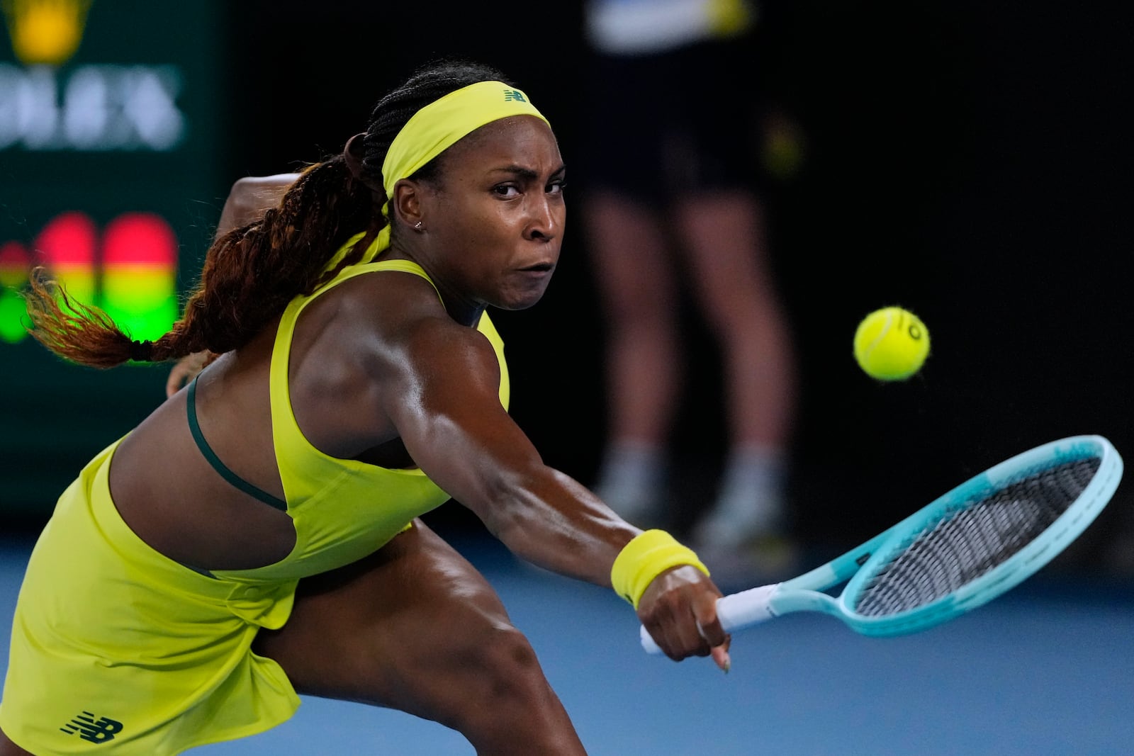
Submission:
[[[499,366],[481,334],[433,318],[421,321],[397,346],[381,360],[383,382],[393,389],[383,392],[392,398],[386,411],[438,485],[510,551],[547,569],[612,587],[616,560],[629,561],[641,587],[626,597],[659,646],[675,660],[711,653],[727,669],[728,637],[716,612],[721,594],[692,566],[696,557],[688,552],[692,559],[682,560],[683,547],[669,547],[668,536],[653,533],[661,538],[658,549],[676,552],[678,561],[651,572],[646,554],[655,557],[658,549],[643,547],[650,537],[638,540],[638,528],[543,462],[500,406]]]

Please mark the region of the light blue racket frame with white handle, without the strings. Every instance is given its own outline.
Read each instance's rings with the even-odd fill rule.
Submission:
[[[926,526],[954,509],[980,501],[996,491],[1043,468],[1083,459],[1099,459],[1099,468],[1078,498],[1018,552],[980,577],[930,603],[880,617],[857,613],[854,605],[880,567],[905,550]],[[823,612],[839,618],[868,636],[895,636],[925,630],[999,596],[1050,562],[1098,517],[1123,476],[1123,460],[1100,435],[1077,435],[1051,441],[1016,455],[956,486],[897,525],[856,549],[799,577],[730,594],[717,602],[717,613],[727,631],[792,612]],[[838,595],[824,593],[843,583]],[[660,648],[644,627],[642,646]]]

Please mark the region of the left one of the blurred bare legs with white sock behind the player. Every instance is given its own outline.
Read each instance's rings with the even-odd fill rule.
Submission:
[[[666,517],[662,472],[680,383],[674,260],[643,204],[595,189],[584,211],[607,332],[607,447],[594,490],[648,527]]]

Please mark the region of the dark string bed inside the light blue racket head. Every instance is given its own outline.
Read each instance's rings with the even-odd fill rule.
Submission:
[[[855,611],[865,617],[909,611],[1002,564],[1067,510],[1100,461],[1089,458],[1043,468],[946,511],[865,581]]]

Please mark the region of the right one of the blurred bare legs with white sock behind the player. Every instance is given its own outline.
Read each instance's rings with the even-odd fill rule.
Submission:
[[[678,203],[676,218],[694,294],[721,348],[730,432],[717,499],[694,541],[701,549],[737,549],[775,536],[785,525],[795,410],[790,331],[754,194],[697,194]]]

